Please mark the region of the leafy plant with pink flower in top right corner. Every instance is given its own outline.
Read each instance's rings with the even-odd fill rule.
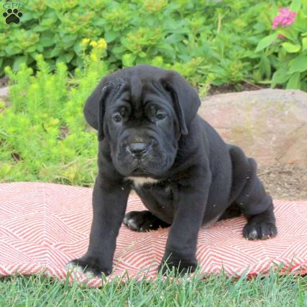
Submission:
[[[266,49],[276,55],[271,87],[281,84],[307,91],[307,3],[294,0],[279,12],[273,33],[259,41],[256,52]],[[270,62],[265,64],[270,67]]]

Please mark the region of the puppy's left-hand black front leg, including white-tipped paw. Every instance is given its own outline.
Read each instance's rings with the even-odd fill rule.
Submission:
[[[102,178],[99,173],[93,190],[93,222],[90,244],[85,255],[73,259],[67,265],[85,269],[101,277],[101,272],[109,275],[116,247],[116,237],[124,218],[130,188],[127,183],[114,183]]]

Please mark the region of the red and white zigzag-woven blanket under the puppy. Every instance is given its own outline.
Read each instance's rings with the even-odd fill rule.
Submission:
[[[0,184],[0,276],[43,273],[91,287],[89,279],[64,266],[82,256],[89,243],[92,189],[40,182]],[[307,273],[307,202],[274,201],[278,235],[268,240],[246,240],[243,216],[200,230],[196,257],[202,273],[222,270],[231,276],[268,274],[283,264],[282,272]],[[127,211],[144,210],[130,195]],[[155,278],[164,253],[168,229],[135,232],[122,225],[117,237],[113,273],[129,278]],[[126,276],[126,275],[125,275]]]

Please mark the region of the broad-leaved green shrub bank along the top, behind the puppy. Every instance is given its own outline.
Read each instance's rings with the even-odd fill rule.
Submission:
[[[20,24],[0,23],[0,74],[33,69],[42,54],[51,70],[82,68],[82,39],[108,43],[111,70],[149,63],[181,72],[193,85],[270,82],[278,55],[255,53],[288,0],[31,0]],[[4,9],[3,9],[4,10]]]

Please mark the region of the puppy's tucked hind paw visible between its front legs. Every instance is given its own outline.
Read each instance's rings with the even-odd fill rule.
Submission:
[[[153,215],[150,211],[130,211],[126,213],[123,224],[134,231],[145,232],[156,230],[159,227],[166,228],[170,225],[161,221],[160,218]]]

